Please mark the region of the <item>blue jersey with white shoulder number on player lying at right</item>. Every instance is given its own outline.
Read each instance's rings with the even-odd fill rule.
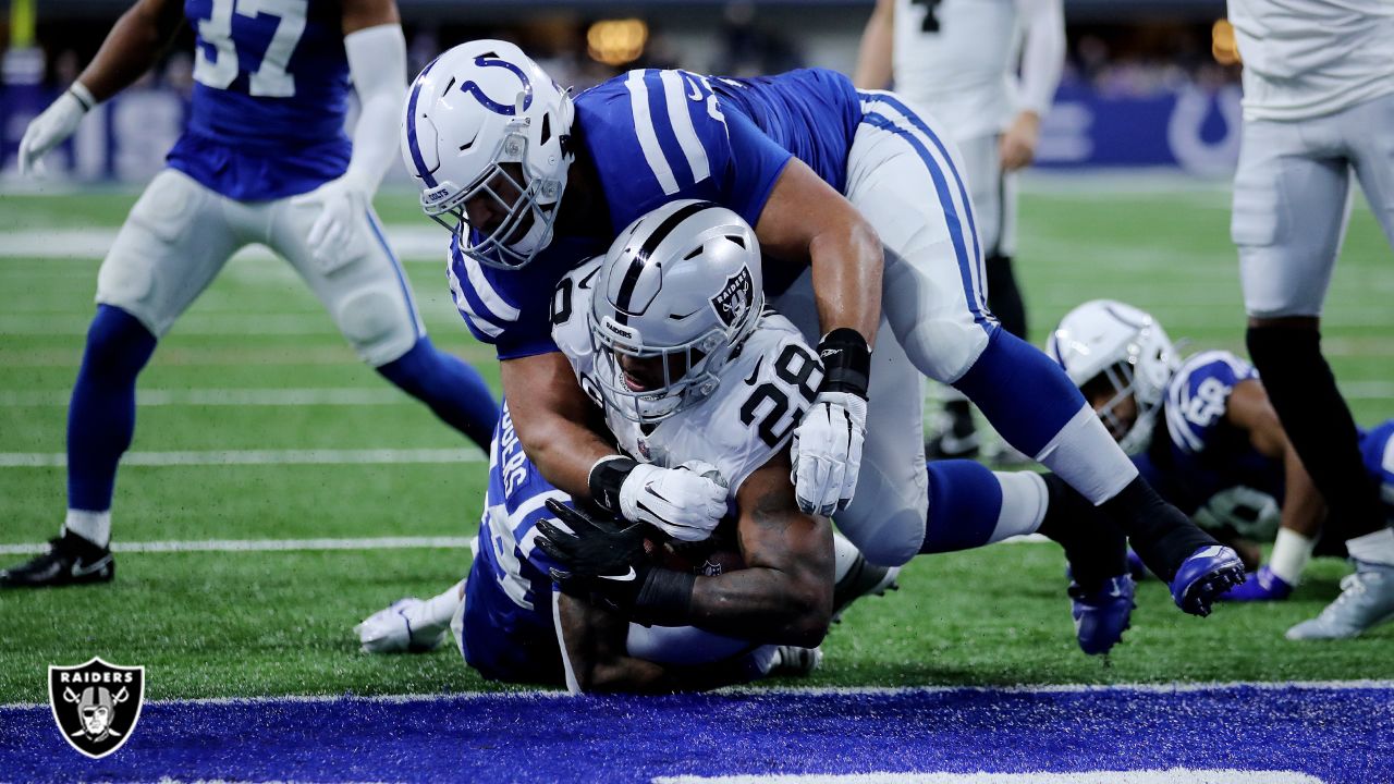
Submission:
[[[1282,462],[1253,448],[1249,434],[1225,421],[1230,395],[1257,379],[1252,364],[1230,352],[1189,357],[1167,384],[1163,416],[1150,446],[1133,462],[1153,487],[1182,512],[1195,515],[1220,492],[1248,488],[1281,502]],[[1370,476],[1394,511],[1394,421],[1361,432]]]

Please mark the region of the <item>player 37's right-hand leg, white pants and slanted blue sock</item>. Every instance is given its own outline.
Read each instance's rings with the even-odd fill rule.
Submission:
[[[269,212],[268,244],[309,282],[358,356],[438,417],[488,449],[499,419],[493,393],[477,370],[438,350],[427,336],[406,272],[388,247],[376,215],[367,211],[354,239],[357,252],[330,262],[305,244],[318,206],[283,199]]]

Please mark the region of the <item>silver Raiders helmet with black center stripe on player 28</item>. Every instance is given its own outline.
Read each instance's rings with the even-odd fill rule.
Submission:
[[[669,202],[630,223],[605,254],[590,329],[601,395],[620,416],[662,421],[707,398],[764,310],[760,243],[735,212]],[[662,368],[637,385],[629,361]]]

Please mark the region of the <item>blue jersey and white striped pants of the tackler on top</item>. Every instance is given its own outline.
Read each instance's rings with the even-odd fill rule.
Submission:
[[[817,68],[757,80],[630,71],[576,98],[573,135],[595,163],[611,233],[558,234],[519,271],[487,268],[453,247],[450,286],[474,335],[503,360],[555,350],[548,297],[587,254],[672,199],[714,201],[758,226],[775,180],[799,158],[859,208],[887,250],[868,389],[875,403],[856,499],[838,525],[874,562],[903,564],[919,552],[928,491],[920,374],[959,379],[998,329],[952,142],[894,93],[857,92],[846,77]],[[771,265],[764,283],[815,343],[807,269]],[[1085,407],[1068,379],[1059,386],[1071,395],[1068,410],[1052,412],[1054,424],[1032,435],[1036,449]]]

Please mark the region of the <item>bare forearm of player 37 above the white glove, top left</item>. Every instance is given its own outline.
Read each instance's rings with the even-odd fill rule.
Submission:
[[[181,20],[183,4],[149,1],[131,6],[106,35],[78,81],[98,102],[141,78],[164,53]]]

